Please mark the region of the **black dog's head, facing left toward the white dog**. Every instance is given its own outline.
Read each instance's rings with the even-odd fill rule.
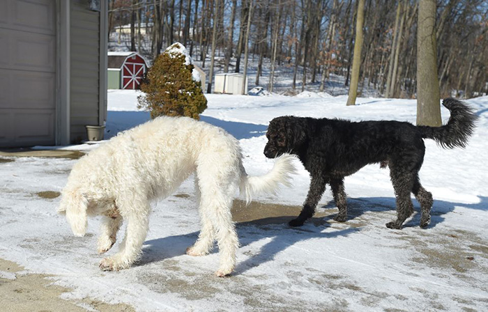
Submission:
[[[271,120],[266,137],[268,143],[264,148],[264,155],[275,158],[284,153],[296,154],[305,141],[305,128],[300,118],[282,116]]]

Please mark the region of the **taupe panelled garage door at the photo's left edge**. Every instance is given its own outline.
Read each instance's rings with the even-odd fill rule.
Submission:
[[[0,147],[53,145],[56,1],[0,1]]]

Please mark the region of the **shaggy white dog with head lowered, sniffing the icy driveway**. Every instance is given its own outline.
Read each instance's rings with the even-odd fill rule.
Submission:
[[[264,176],[247,176],[238,141],[207,123],[186,117],[159,117],[123,132],[79,159],[63,189],[59,212],[78,236],[86,233],[87,216],[102,215],[98,252],[116,241],[122,220],[127,222],[119,252],[100,261],[102,270],[130,267],[142,253],[148,231],[151,200],[165,198],[195,172],[201,231],[186,251],[202,256],[215,238],[220,249],[218,276],[236,265],[238,238],[231,205],[238,189],[252,194],[275,193],[289,185],[293,156],[279,157]]]

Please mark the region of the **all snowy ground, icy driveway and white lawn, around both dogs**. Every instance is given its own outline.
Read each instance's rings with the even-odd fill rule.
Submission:
[[[135,108],[137,95],[109,91],[106,137],[148,120],[148,113]],[[275,116],[415,123],[415,100],[358,98],[358,105],[346,107],[345,96],[317,93],[206,97],[201,120],[241,141],[244,166],[252,175],[273,166],[263,149],[266,126]],[[98,219],[90,220],[88,235],[73,237],[66,220],[56,215],[59,198],[37,195],[59,192],[76,160],[10,157],[13,162],[6,162],[9,157],[1,157],[0,258],[29,272],[54,274],[56,284],[73,289],[66,298],[124,302],[137,311],[488,311],[488,97],[467,102],[480,119],[466,149],[444,150],[426,141],[420,180],[432,192],[434,208],[425,230],[418,227],[418,214],[402,231],[384,226],[395,217],[388,169],[367,166],[346,178],[349,220],[344,224],[332,220],[337,208],[329,191],[319,204],[321,217],[302,228],[289,228],[290,217],[260,206],[259,219],[237,224],[241,248],[235,274],[219,279],[213,275],[218,250],[198,258],[185,255],[199,231],[190,178],[177,196],[155,205],[141,262],[129,270],[101,272]],[[447,120],[448,111],[442,114]],[[310,181],[297,166],[293,188],[255,199],[280,204],[280,212],[296,211]]]

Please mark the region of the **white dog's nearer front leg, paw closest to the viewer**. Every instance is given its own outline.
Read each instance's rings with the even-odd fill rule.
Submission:
[[[118,253],[100,261],[100,269],[104,271],[127,269],[139,259],[142,253],[142,244],[146,240],[148,231],[148,212],[138,213],[137,216],[130,215],[125,219],[127,220],[125,239]]]

